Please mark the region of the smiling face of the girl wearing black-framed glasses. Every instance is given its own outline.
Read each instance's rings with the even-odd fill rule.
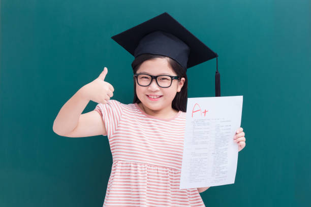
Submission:
[[[177,76],[173,69],[169,66],[166,58],[154,58],[144,61],[136,73],[145,73],[153,76],[169,75]],[[145,112],[149,115],[155,114],[171,114],[172,101],[177,92],[183,86],[185,79],[181,78],[180,81],[174,79],[172,85],[168,88],[161,88],[158,86],[155,79],[152,80],[149,86],[140,86],[136,82],[136,94],[141,101]],[[151,99],[148,96],[160,96],[157,99]]]

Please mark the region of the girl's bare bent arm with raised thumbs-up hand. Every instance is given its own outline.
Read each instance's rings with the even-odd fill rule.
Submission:
[[[105,123],[98,112],[81,113],[90,100],[106,104],[113,96],[113,86],[104,81],[107,73],[108,69],[105,67],[97,79],[80,88],[61,107],[53,124],[55,133],[69,137],[106,134]]]

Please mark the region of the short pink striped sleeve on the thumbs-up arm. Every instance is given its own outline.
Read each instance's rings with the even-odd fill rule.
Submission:
[[[108,139],[111,135],[113,135],[118,127],[122,116],[122,107],[123,103],[117,100],[109,99],[106,104],[98,103],[94,109],[94,111],[97,111],[101,115],[104,121],[106,134],[103,135],[108,135]]]

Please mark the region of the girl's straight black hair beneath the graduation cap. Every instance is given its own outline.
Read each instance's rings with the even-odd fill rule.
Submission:
[[[136,72],[139,69],[139,66],[146,60],[154,59],[154,58],[167,58],[168,64],[172,67],[173,71],[179,76],[180,78],[184,78],[185,81],[183,83],[183,86],[179,92],[176,93],[173,101],[172,101],[172,108],[177,111],[186,112],[186,104],[187,104],[187,98],[188,98],[188,79],[186,72],[184,68],[175,60],[173,60],[170,57],[163,56],[163,55],[153,55],[153,54],[141,54],[137,56],[134,61],[132,62],[132,68],[133,73],[136,74]],[[136,94],[136,81],[135,77],[133,77],[134,80],[134,100],[133,103],[139,103],[141,102]]]

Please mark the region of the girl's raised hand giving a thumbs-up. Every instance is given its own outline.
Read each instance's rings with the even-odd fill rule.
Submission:
[[[97,103],[107,103],[107,101],[113,96],[114,91],[113,86],[104,81],[107,73],[108,69],[107,67],[104,67],[103,72],[97,79],[82,87],[85,98]]]

